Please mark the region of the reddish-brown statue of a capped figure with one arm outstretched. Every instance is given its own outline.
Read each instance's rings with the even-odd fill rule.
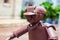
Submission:
[[[33,7],[30,6],[24,13],[27,21],[30,23],[26,27],[22,27],[17,31],[13,32],[8,40],[11,40],[15,37],[20,37],[24,33],[29,33],[29,40],[57,40],[49,39],[49,35],[45,29],[45,26],[42,26],[40,20],[43,20],[46,10],[43,7]]]

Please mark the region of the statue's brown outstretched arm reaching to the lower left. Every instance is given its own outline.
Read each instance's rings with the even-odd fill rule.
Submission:
[[[14,31],[6,40],[11,40],[15,37],[20,37],[21,35],[25,34],[26,32],[28,32],[28,29],[26,26]]]

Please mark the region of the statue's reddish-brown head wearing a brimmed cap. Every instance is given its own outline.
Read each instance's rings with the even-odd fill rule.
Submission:
[[[28,9],[30,10],[30,9]],[[46,13],[46,10],[44,7],[36,7],[34,10],[30,10],[26,13],[24,13],[27,21],[31,24],[34,24],[34,23],[38,23],[40,20],[42,20],[44,18],[44,15]]]

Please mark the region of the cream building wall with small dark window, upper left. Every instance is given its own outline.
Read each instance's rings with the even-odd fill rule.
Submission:
[[[0,18],[19,18],[21,10],[21,0],[0,0]]]

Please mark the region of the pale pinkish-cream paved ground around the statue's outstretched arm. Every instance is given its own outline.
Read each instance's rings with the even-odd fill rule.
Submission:
[[[0,40],[5,40],[8,37],[8,35],[11,34],[11,32],[17,30],[18,28],[26,24],[28,24],[26,20],[0,20]],[[58,29],[59,27],[57,25],[55,26],[57,28],[57,33],[60,38],[60,34],[59,34],[60,29]],[[28,33],[13,40],[28,40]]]

